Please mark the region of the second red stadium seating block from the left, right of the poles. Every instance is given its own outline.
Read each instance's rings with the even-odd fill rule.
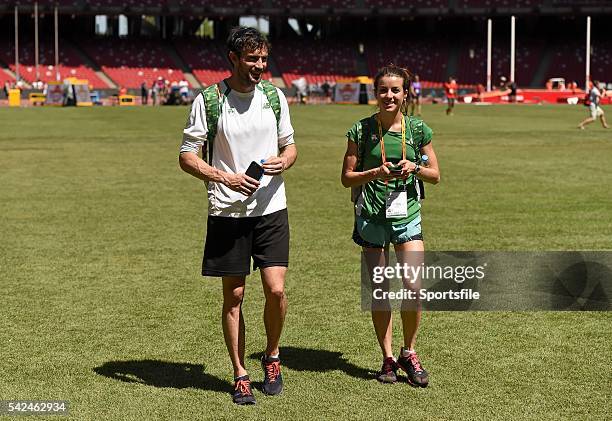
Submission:
[[[96,39],[80,46],[121,87],[150,85],[158,77],[171,82],[185,77],[159,40]]]

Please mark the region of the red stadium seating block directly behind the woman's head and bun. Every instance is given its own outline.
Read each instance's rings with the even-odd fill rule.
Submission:
[[[370,74],[389,62],[418,74],[424,88],[439,87],[445,79],[448,61],[447,44],[440,41],[401,40],[391,43],[372,41],[366,44]]]

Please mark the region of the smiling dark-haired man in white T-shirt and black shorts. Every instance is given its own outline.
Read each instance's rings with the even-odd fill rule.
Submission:
[[[281,173],[293,165],[297,149],[285,96],[266,85],[276,95],[275,105],[280,106],[277,121],[275,105],[262,89],[269,52],[267,40],[257,30],[241,27],[232,30],[227,44],[232,74],[218,84],[220,114],[214,143],[207,142],[206,99],[200,94],[192,104],[183,132],[179,162],[184,171],[207,183],[208,228],[202,275],[221,277],[223,335],[234,368],[233,400],[237,404],[254,404],[244,364],[241,305],[245,277],[252,258],[254,268],[260,269],[266,299],[263,392],[276,395],[283,388],[278,347],[287,307],[284,287],[289,258],[289,224]],[[212,152],[208,162],[197,154],[201,147],[204,157],[207,148]],[[263,161],[264,175],[260,180],[245,174],[253,161]]]

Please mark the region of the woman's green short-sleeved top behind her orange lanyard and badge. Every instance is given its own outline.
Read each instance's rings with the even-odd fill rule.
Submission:
[[[364,124],[365,123],[365,124]],[[361,139],[359,134],[361,133]],[[416,162],[417,157],[420,159],[420,148],[429,144],[433,131],[421,119],[416,117],[406,117],[406,159]],[[358,148],[362,151],[363,156],[358,157],[360,162],[360,170],[366,171],[372,168],[380,167],[382,164],[382,156],[380,152],[380,141],[378,132],[378,121],[376,115],[372,115],[368,119],[360,120],[355,123],[346,136],[351,142],[359,145],[359,142],[365,143]],[[385,154],[387,161],[397,163],[402,159],[402,134],[398,132],[384,131],[383,138],[385,142]],[[403,191],[406,190],[408,196],[408,212],[407,217],[387,218],[385,214],[385,201],[388,191]],[[417,191],[415,187],[415,178],[413,174],[404,180],[390,180],[387,184],[383,180],[372,180],[362,186],[361,198],[357,200],[357,213],[367,219],[376,221],[390,221],[393,225],[403,224],[415,219],[421,208],[417,199]]]

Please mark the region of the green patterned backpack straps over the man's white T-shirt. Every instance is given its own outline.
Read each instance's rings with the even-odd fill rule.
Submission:
[[[280,99],[276,87],[267,80],[262,80],[259,83],[261,90],[266,95],[268,103],[274,111],[274,117],[276,117],[276,129],[280,122]],[[258,88],[259,88],[258,86]],[[225,92],[221,93],[219,84],[210,85],[209,87],[202,90],[200,93],[204,97],[204,107],[206,109],[206,125],[208,126],[208,134],[206,136],[207,148],[208,148],[208,163],[212,163],[213,143],[215,136],[217,136],[217,128],[219,123],[219,116],[223,107],[223,99],[230,93],[231,89],[228,87]],[[204,156],[206,159],[206,156]]]

